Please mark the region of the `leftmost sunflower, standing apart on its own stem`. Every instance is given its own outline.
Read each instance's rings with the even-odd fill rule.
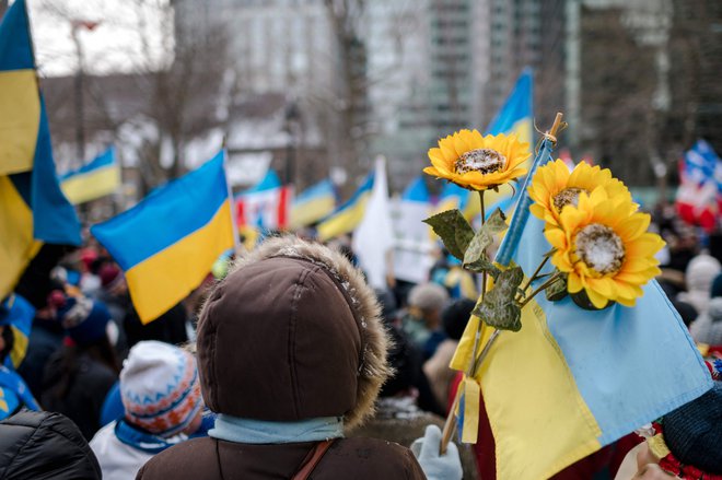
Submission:
[[[531,155],[529,144],[515,134],[482,137],[477,130],[461,130],[429,150],[433,166],[423,172],[469,190],[487,190],[524,175],[521,165]]]

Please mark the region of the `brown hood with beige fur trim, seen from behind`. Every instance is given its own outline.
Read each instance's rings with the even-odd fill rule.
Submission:
[[[362,274],[323,245],[271,238],[236,261],[202,307],[198,367],[211,410],[247,419],[373,411],[389,374],[380,306]]]

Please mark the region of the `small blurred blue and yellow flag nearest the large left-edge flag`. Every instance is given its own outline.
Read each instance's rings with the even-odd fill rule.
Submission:
[[[89,164],[60,177],[60,188],[72,204],[113,194],[120,186],[120,165],[109,148]]]

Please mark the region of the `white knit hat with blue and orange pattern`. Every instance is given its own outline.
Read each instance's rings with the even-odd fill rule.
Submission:
[[[160,341],[141,341],[120,372],[126,420],[159,436],[184,430],[200,410],[196,359]]]

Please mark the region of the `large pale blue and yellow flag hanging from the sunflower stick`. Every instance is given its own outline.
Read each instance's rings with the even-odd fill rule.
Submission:
[[[545,140],[527,178],[551,161],[550,151]],[[497,261],[514,260],[531,272],[550,246],[544,223],[529,215],[526,185],[521,191]],[[711,387],[660,285],[652,281],[643,290],[634,307],[615,304],[598,312],[542,294],[523,309],[519,332],[499,335],[477,377],[464,383],[465,402],[477,406],[480,385],[497,478],[549,478]],[[477,323],[471,317],[452,362],[456,370],[467,368]],[[485,327],[484,337],[490,335]],[[468,413],[465,409],[464,430],[474,430],[478,417]]]

